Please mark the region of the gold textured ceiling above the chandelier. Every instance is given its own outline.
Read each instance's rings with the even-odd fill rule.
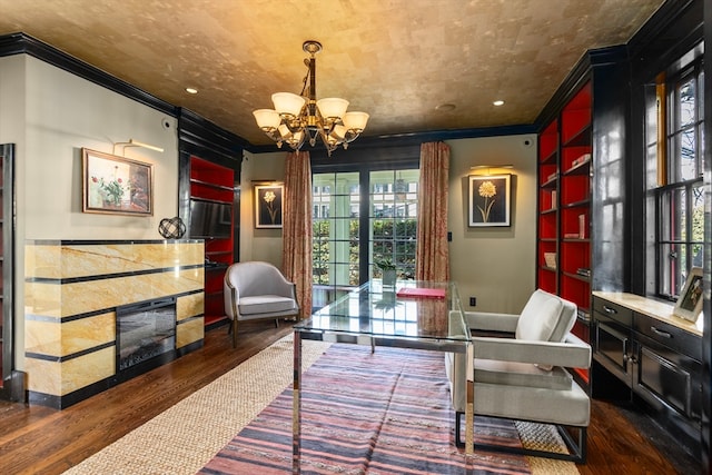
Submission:
[[[370,113],[364,136],[523,125],[587,49],[627,42],[662,3],[0,0],[0,34],[28,33],[260,145],[251,111],[301,90],[305,40],[324,46],[317,98]]]

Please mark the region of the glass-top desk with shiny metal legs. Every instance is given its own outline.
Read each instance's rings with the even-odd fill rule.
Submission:
[[[372,280],[294,327],[293,472],[299,473],[301,340],[464,353],[474,364],[469,329],[455,283]],[[473,380],[467,369],[466,453],[473,451]]]

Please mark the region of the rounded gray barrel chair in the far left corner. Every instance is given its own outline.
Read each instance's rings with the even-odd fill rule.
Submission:
[[[297,289],[269,263],[236,263],[227,268],[224,279],[225,314],[233,320],[233,347],[237,347],[239,321],[299,315]]]

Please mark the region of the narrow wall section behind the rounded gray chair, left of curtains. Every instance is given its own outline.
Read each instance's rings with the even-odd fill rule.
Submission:
[[[240,261],[265,260],[281,269],[281,229],[255,229],[253,186],[284,181],[286,151],[245,152],[240,175]]]

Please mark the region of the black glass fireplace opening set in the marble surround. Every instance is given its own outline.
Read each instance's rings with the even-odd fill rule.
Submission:
[[[117,373],[176,349],[176,298],[116,309]]]

